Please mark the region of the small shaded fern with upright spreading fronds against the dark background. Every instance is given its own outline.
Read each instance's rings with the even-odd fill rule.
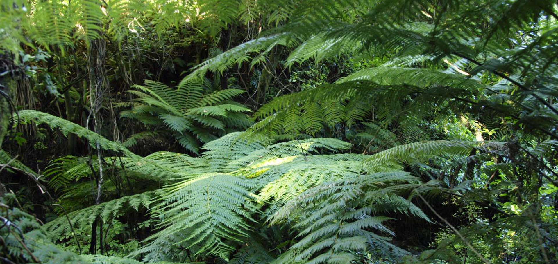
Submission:
[[[171,135],[185,149],[198,154],[201,143],[207,143],[227,131],[243,129],[249,124],[250,111],[231,101],[242,94],[239,89],[226,89],[211,92],[209,80],[192,81],[179,85],[176,89],[160,82],[146,80],[146,86],[133,86],[131,94],[138,98],[132,102],[132,110],[122,111],[121,117],[135,119],[155,128],[167,128]],[[127,103],[121,104],[121,106]],[[132,135],[127,144],[136,138],[150,134]],[[133,140],[133,141],[131,141]]]

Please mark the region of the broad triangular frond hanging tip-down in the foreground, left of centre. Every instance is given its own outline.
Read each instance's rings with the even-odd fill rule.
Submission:
[[[166,226],[151,238],[169,239],[186,233],[177,243],[198,247],[197,254],[215,255],[228,260],[234,247],[226,241],[247,237],[251,215],[257,206],[254,195],[246,189],[253,183],[232,175],[210,173],[172,185],[163,196],[163,206],[156,209]]]

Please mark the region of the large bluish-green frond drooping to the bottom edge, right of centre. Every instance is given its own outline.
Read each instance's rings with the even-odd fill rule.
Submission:
[[[393,256],[406,254],[384,235],[394,235],[384,225],[390,218],[378,213],[385,213],[387,204],[397,204],[392,208],[428,219],[398,196],[416,183],[408,173],[377,173],[352,175],[307,190],[272,218],[272,223],[296,219],[294,228],[300,238],[275,263],[348,263],[355,258],[352,252],[370,249]]]

